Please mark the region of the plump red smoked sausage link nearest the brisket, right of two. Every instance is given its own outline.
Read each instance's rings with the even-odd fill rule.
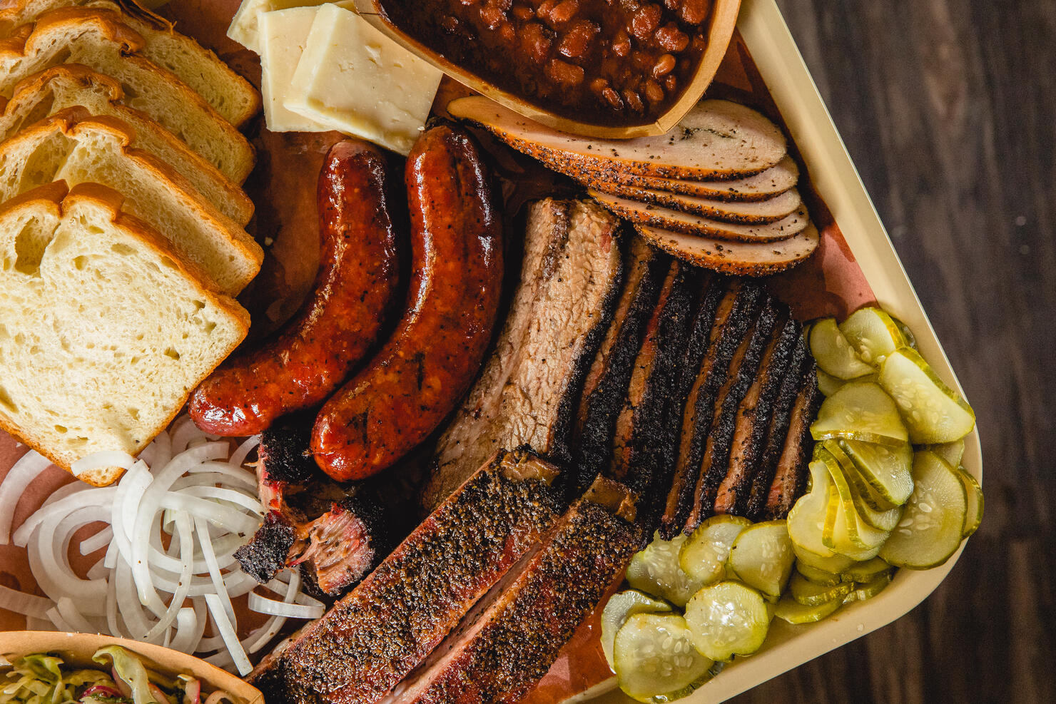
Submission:
[[[408,156],[413,272],[384,348],[320,411],[316,462],[338,481],[390,467],[426,439],[472,383],[503,286],[502,217],[475,142],[429,129]]]

